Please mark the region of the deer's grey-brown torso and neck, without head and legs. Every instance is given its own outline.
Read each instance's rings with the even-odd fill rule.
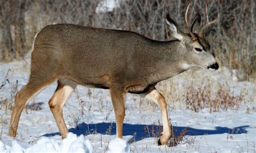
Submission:
[[[119,86],[143,93],[185,70],[179,67],[178,45],[179,41],[151,40],[130,31],[49,25],[35,39],[31,76],[48,64],[43,72],[49,77],[55,74],[56,79],[68,78],[84,86]]]

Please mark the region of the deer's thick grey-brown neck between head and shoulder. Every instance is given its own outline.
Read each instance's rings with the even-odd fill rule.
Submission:
[[[169,79],[174,75],[184,72],[187,67],[184,60],[183,44],[179,40],[156,41],[145,52],[150,53],[149,80],[156,83]]]

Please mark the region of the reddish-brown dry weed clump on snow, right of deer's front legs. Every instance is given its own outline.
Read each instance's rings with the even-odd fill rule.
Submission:
[[[211,112],[219,112],[220,110],[235,109],[238,110],[242,101],[245,100],[247,92],[240,91],[235,93],[234,87],[227,84],[216,85],[217,91],[211,87],[210,83],[194,87],[187,87],[186,108],[192,109],[194,112],[208,108]]]

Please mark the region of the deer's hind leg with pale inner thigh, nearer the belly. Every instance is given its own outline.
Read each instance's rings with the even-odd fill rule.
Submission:
[[[76,86],[76,82],[68,79],[59,79],[58,87],[49,101],[51,112],[53,114],[53,117],[55,118],[62,138],[65,138],[66,134],[68,134],[69,132],[62,114],[63,106],[66,100],[68,100],[69,96],[75,90]]]

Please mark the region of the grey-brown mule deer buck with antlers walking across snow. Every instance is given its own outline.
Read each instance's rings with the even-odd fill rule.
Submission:
[[[117,137],[122,138],[126,93],[140,94],[157,103],[163,120],[159,143],[166,144],[171,136],[166,101],[156,86],[192,66],[218,69],[203,32],[209,22],[200,27],[197,14],[187,30],[177,25],[169,15],[166,23],[177,40],[156,41],[138,33],[98,29],[72,24],[45,26],[33,42],[31,74],[28,84],[16,94],[9,135],[16,136],[19,118],[26,103],[45,87],[58,81],[49,101],[51,112],[62,137],[68,128],[63,119],[63,106],[77,85],[109,89],[116,115]],[[186,33],[186,31],[188,31]]]

